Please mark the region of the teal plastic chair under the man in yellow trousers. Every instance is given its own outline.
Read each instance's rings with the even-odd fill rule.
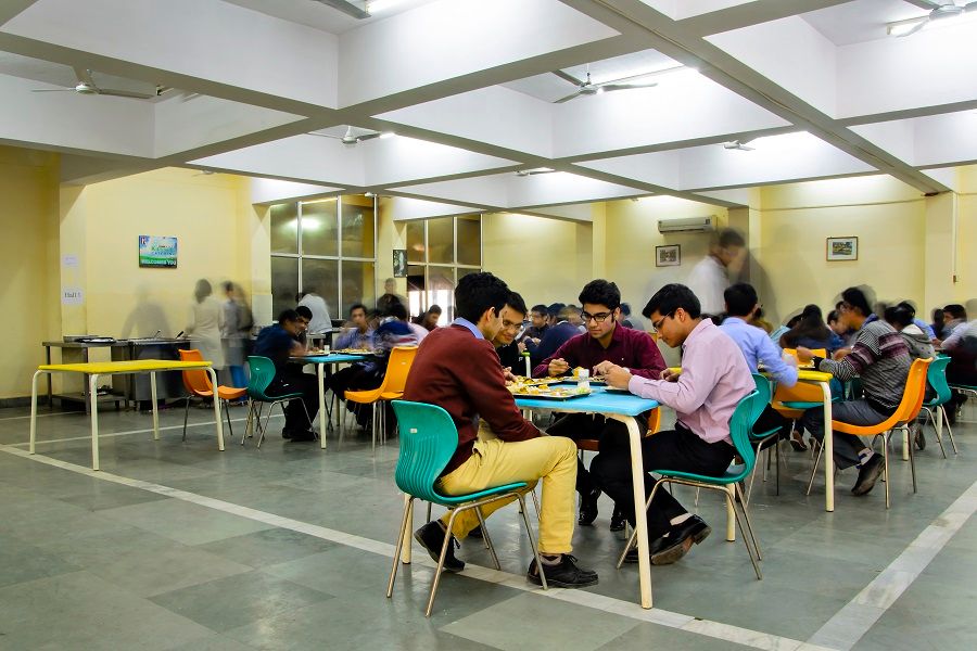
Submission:
[[[480,507],[499,499],[515,497],[519,500],[522,522],[525,524],[525,533],[529,535],[530,547],[536,558],[536,565],[542,567],[543,561],[533,538],[533,529],[526,516],[525,500],[522,493],[528,488],[525,482],[515,482],[503,486],[493,486],[469,493],[468,495],[442,495],[437,492],[437,478],[441,476],[448,461],[458,448],[458,430],[448,412],[436,405],[426,403],[411,403],[408,400],[393,400],[394,413],[401,427],[401,456],[397,459],[397,469],[394,480],[401,490],[404,492],[404,519],[401,522],[401,531],[397,534],[397,547],[394,553],[393,569],[390,571],[390,583],[386,585],[386,596],[393,595],[394,580],[397,577],[397,565],[404,545],[410,545],[407,536],[414,529],[414,500],[422,499],[451,509],[447,532],[444,534],[444,542],[441,546],[441,557],[437,559],[437,569],[434,572],[434,582],[431,585],[431,596],[428,599],[428,609],[424,616],[431,616],[434,608],[434,596],[437,593],[437,584],[441,579],[441,570],[444,567],[444,557],[451,545],[451,531],[458,513],[474,509],[482,525],[482,535],[495,563],[499,570],[498,557],[488,537],[488,529],[482,518]],[[544,573],[540,573],[543,579],[543,589],[547,588]]]

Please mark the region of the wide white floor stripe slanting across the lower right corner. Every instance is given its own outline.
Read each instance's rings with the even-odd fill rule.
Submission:
[[[808,641],[827,642],[833,638],[833,631],[841,628],[848,634],[841,651],[854,647],[977,511],[975,496],[977,482],[970,484],[963,495],[923,529],[902,553],[835,613]],[[965,512],[968,512],[967,516],[962,518]],[[934,529],[938,529],[937,535],[934,534]]]

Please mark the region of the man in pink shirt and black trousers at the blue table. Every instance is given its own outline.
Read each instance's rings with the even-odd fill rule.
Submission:
[[[699,299],[682,284],[661,288],[642,311],[671,347],[682,346],[682,373],[665,369],[661,380],[632,375],[609,361],[597,371],[611,386],[627,388],[644,398],[675,410],[674,430],[642,441],[645,470],[678,470],[719,476],[733,461],[729,418],[736,405],[756,384],[746,360],[727,334],[701,317]],[[634,525],[631,454],[627,448],[601,451],[591,463],[597,485],[607,493]],[[650,493],[652,482],[645,482]],[[648,509],[651,563],[667,565],[684,557],[693,542],[701,542],[712,529],[689,514],[668,490],[658,490]],[[629,560],[637,561],[636,552]]]

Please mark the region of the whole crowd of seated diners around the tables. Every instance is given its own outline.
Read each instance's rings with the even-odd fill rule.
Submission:
[[[534,305],[488,272],[462,277],[454,294],[455,318],[437,327],[441,309],[432,306],[409,319],[402,297],[392,292],[378,309],[352,306],[334,348],[369,348],[375,355],[333,373],[328,382],[337,396],[347,390],[380,385],[390,350],[418,345],[404,399],[444,408],[458,430],[457,449],[439,480],[446,495],[525,482],[531,490],[542,482],[540,550],[543,567],[532,561],[526,576],[549,585],[584,587],[597,583],[571,554],[574,525],[593,525],[597,501],[606,494],[614,503],[611,529],[635,522],[631,457],[624,425],[596,414],[563,414],[545,432],[523,418],[507,383],[525,369],[535,378],[561,376],[575,368],[601,375],[610,386],[657,400],[675,412],[672,429],[643,438],[645,470],[668,468],[705,475],[722,474],[734,460],[729,419],[737,404],[756,387],[752,373],[763,368],[772,381],[791,387],[798,362],[830,373],[845,398],[833,406],[834,419],[859,425],[878,424],[897,409],[914,358],[932,357],[935,347],[952,358],[951,382],[977,384],[975,349],[977,320],[967,320],[961,305],[935,311],[934,322],[916,318],[908,302],[874,305],[860,288],[848,288],[827,319],[816,305],[807,306],[782,327],[765,322],[753,286],[735,283],[723,291],[721,314],[706,314],[694,291],[684,284],[661,286],[640,310],[631,312],[613,282],[588,282],[576,305]],[[942,318],[939,318],[942,317]],[[315,418],[318,386],[301,365],[288,363],[300,354],[307,318],[284,310],[278,323],[264,329],[256,355],[275,360],[276,391],[301,391],[309,417]],[[656,341],[657,340],[657,341]],[[659,343],[681,348],[681,370],[667,368]],[[790,349],[785,350],[785,348]],[[525,357],[529,357],[526,367]],[[858,392],[840,392],[841,383],[858,378]],[[953,407],[962,404],[954,397]],[[955,416],[955,409],[950,409]],[[648,413],[638,417],[648,426]],[[359,413],[366,426],[369,416]],[[953,418],[953,416],[951,416]],[[808,409],[791,423],[767,406],[757,432],[782,427],[782,436],[798,449],[819,445],[824,436],[823,410]],[[917,431],[922,436],[922,430]],[[282,432],[292,441],[315,436],[300,408],[290,407]],[[597,439],[599,451],[586,468],[576,441]],[[857,467],[854,495],[866,495],[878,481],[883,459],[860,437],[834,433],[838,468]],[[650,490],[650,481],[647,486]],[[580,507],[576,507],[579,494]],[[483,516],[504,506],[482,508]],[[430,522],[415,538],[436,561],[446,534],[447,515]],[[659,490],[648,510],[650,562],[674,563],[711,528],[689,513],[669,492]],[[468,511],[454,521],[451,535],[464,540],[480,535],[478,515]],[[465,563],[447,547],[445,570],[460,572]],[[634,549],[625,559],[637,561]]]

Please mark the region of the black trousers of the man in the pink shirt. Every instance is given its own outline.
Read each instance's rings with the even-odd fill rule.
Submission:
[[[642,439],[642,459],[645,465],[645,499],[651,494],[655,480],[648,471],[681,470],[703,475],[719,476],[733,461],[735,449],[725,442],[706,443],[690,431],[677,425]],[[613,446],[591,463],[591,473],[597,486],[613,499],[627,521],[634,525],[634,493],[631,478],[631,451]],[[644,506],[644,505],[643,505]],[[648,509],[648,536],[663,536],[671,527],[671,520],[686,510],[664,488],[659,488]]]

